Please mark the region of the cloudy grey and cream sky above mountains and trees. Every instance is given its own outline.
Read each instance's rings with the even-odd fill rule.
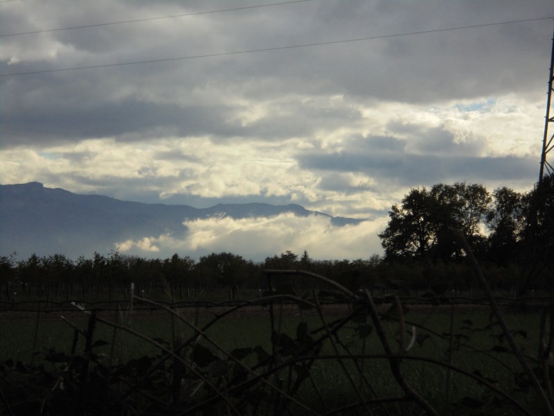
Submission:
[[[0,183],[368,219],[205,220],[124,254],[369,258],[411,188],[533,187],[553,17],[551,0],[3,1]]]

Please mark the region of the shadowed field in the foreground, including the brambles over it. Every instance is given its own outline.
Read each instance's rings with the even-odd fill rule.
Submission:
[[[12,394],[14,386],[35,385],[24,401],[11,401],[13,414],[58,402],[69,406],[60,414],[71,414],[100,392],[113,399],[98,414],[544,413],[488,306],[386,301],[374,305],[377,320],[364,300],[289,295],[174,313],[136,299],[132,312],[122,302],[120,311],[94,318],[3,311],[2,389]],[[503,313],[530,367],[541,364],[544,316]],[[60,379],[80,402],[71,401],[67,387],[58,391]]]

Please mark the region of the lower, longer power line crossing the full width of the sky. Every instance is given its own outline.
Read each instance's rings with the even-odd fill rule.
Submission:
[[[334,40],[334,41],[330,41],[330,42],[316,42],[316,43],[310,43],[310,44],[275,46],[275,47],[263,48],[263,49],[250,49],[248,51],[208,53],[206,55],[181,56],[179,58],[163,58],[163,59],[141,60],[141,61],[134,61],[134,62],[119,62],[119,63],[116,63],[116,64],[91,65],[91,66],[88,66],[88,67],[45,69],[45,70],[42,70],[42,71],[1,73],[0,77],[3,77],[3,76],[17,76],[17,75],[33,75],[33,74],[36,74],[36,73],[49,73],[49,72],[61,72],[61,71],[76,71],[76,70],[79,70],[79,69],[121,67],[123,65],[150,64],[150,63],[153,63],[153,62],[169,62],[169,61],[175,61],[175,60],[188,60],[188,59],[198,59],[198,58],[213,58],[213,57],[216,57],[216,56],[240,55],[240,54],[244,54],[244,53],[279,51],[279,50],[282,50],[282,49],[296,49],[296,48],[306,48],[306,47],[309,47],[309,46],[321,46],[321,45],[340,44],[340,43],[347,43],[347,42],[360,42],[360,41],[363,41],[363,40],[377,40],[377,39],[385,39],[387,37],[422,35],[422,34],[425,34],[425,33],[459,31],[459,30],[462,30],[462,29],[482,28],[482,27],[485,27],[485,26],[498,26],[498,25],[501,25],[501,24],[512,24],[512,23],[521,23],[521,22],[524,22],[524,21],[537,21],[537,20],[546,20],[546,19],[554,19],[554,17],[537,17],[535,19],[521,19],[521,20],[512,20],[512,21],[501,21],[501,22],[498,22],[498,23],[476,24],[476,25],[472,25],[472,26],[459,26],[459,27],[456,27],[456,28],[443,28],[443,29],[432,29],[432,30],[429,30],[429,31],[395,33],[394,35],[358,37],[357,39]]]

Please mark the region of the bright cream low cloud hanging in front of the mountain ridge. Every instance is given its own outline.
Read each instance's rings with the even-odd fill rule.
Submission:
[[[387,218],[358,225],[334,227],[329,218],[299,218],[282,214],[272,218],[209,218],[186,222],[183,236],[163,234],[116,243],[120,252],[139,256],[170,256],[175,252],[198,258],[212,252],[233,252],[262,261],[286,250],[307,250],[314,259],[357,259],[381,253],[377,232]]]

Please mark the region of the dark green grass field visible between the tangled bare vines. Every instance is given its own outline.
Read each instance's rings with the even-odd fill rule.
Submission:
[[[325,315],[325,322],[328,324],[328,329],[325,329],[321,318],[314,313],[301,313],[297,309],[280,313],[279,306],[275,306],[273,331],[282,335],[279,341],[274,337],[272,342],[268,309],[267,306],[263,309],[262,306],[258,306],[246,315],[240,317],[229,315],[220,320],[215,320],[213,313],[197,313],[194,309],[183,309],[179,313],[188,322],[195,323],[197,327],[208,325],[205,336],[199,339],[199,344],[208,348],[215,357],[225,361],[226,367],[229,368],[233,368],[233,363],[224,352],[250,349],[251,351],[242,357],[241,361],[244,365],[256,368],[260,355],[255,354],[253,350],[260,347],[260,351],[272,354],[275,345],[280,349],[278,363],[285,363],[291,360],[294,354],[290,354],[289,349],[285,348],[286,345],[283,346],[283,340],[291,340],[298,345],[303,336],[303,333],[298,333],[301,322],[307,324],[307,334],[310,339],[317,340],[324,336],[328,329],[333,328],[334,320],[339,320],[345,315],[337,314],[336,311]],[[134,331],[156,339],[166,347],[170,347],[174,339],[183,341],[195,337],[193,329],[166,312],[152,314],[137,312],[129,316],[127,311],[120,314],[112,311],[102,313],[100,316],[118,324],[129,324]],[[539,345],[538,314],[506,313],[504,317],[519,349],[533,367]],[[67,320],[75,327],[87,329],[88,316],[84,313],[71,313],[67,316]],[[522,413],[514,406],[506,405],[506,399],[491,390],[490,386],[478,383],[454,370],[448,370],[444,365],[431,363],[429,360],[450,363],[461,370],[479,374],[490,385],[517,400],[530,414],[541,414],[540,403],[533,389],[521,388],[522,383],[518,381],[521,365],[515,355],[510,353],[506,338],[501,335],[499,325],[490,318],[487,310],[456,309],[451,315],[448,308],[413,309],[406,313],[405,320],[404,345],[408,345],[412,338],[414,342],[409,352],[406,352],[402,358],[400,364],[402,375],[406,383],[419,395],[425,397],[441,414],[446,414],[447,410],[453,415],[479,413],[519,415]],[[396,351],[400,338],[398,321],[382,320],[382,324],[391,347]],[[0,313],[0,333],[2,334],[0,363],[12,358],[14,361],[34,363],[34,365],[61,367],[65,363],[44,361],[44,352],[69,353],[75,329],[62,319],[51,318],[44,313],[39,315],[31,313],[26,315],[26,318]],[[145,356],[152,357],[155,361],[163,355],[152,343],[101,322],[96,324],[94,340],[104,340],[107,343],[94,349],[94,352],[102,357],[99,358],[100,361],[107,366],[120,365]],[[190,347],[182,353],[186,360],[191,360],[193,345],[194,343],[191,343]],[[82,352],[84,348],[84,336],[79,336],[75,351]],[[306,353],[307,356],[315,354],[313,349],[310,351]],[[43,354],[35,354],[35,352],[43,352]],[[307,404],[316,413],[329,412],[334,408],[338,409],[348,403],[359,401],[359,397],[364,397],[382,400],[382,404],[370,405],[373,413],[377,415],[421,414],[420,406],[413,401],[402,400],[404,392],[391,372],[391,362],[384,355],[385,349],[379,341],[375,325],[370,318],[366,322],[351,320],[344,324],[334,333],[334,336],[325,340],[317,354],[320,358],[311,363],[309,376],[302,380],[297,390],[294,390],[294,398]],[[345,357],[339,360],[330,356]],[[358,358],[354,360],[346,356],[358,356]],[[310,359],[305,358],[281,370],[276,370],[271,373],[270,379],[281,385],[284,390],[290,391],[308,361]],[[258,367],[254,372],[260,374],[264,369],[263,366]],[[231,379],[231,372],[226,372],[224,379]],[[388,403],[388,399],[391,399],[391,403]],[[358,410],[364,410],[363,406],[352,411]],[[303,414],[305,410],[298,407],[296,412]],[[347,413],[344,410],[339,414],[357,413]]]

